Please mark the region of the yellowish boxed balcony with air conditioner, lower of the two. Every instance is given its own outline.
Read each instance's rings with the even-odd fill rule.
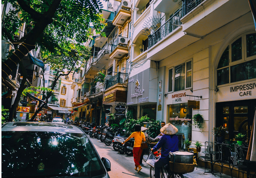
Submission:
[[[128,38],[119,36],[116,39],[116,41],[112,44],[109,58],[115,59],[115,60],[122,59],[129,52],[127,44],[128,44]]]

